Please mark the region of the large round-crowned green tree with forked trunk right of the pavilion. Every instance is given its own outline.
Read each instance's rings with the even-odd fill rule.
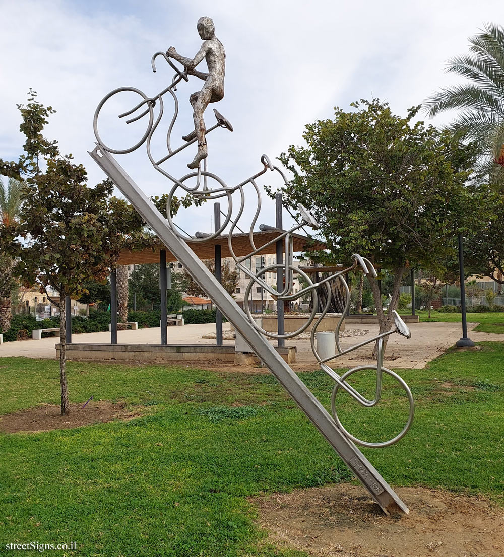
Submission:
[[[336,109],[334,120],[307,125],[307,145],[291,145],[280,155],[293,174],[284,199],[293,209],[304,204],[321,224],[331,251],[320,253],[321,261],[347,262],[357,252],[390,271],[387,315],[377,281],[369,280],[383,333],[392,325],[404,272],[453,253],[447,235],[474,207],[472,190],[464,187],[474,148],[446,131],[413,124],[419,106],[406,118],[377,99],[351,106],[356,110]]]

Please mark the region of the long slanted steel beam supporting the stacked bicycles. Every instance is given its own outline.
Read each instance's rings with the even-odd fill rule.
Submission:
[[[371,497],[380,505],[385,514],[408,513],[408,507],[404,502],[401,501],[355,444],[338,429],[333,418],[311,390],[299,379],[282,356],[269,344],[268,340],[254,328],[246,314],[196,257],[187,243],[172,231],[168,226],[167,219],[154,207],[146,194],[134,183],[110,153],[101,149],[99,144],[96,145],[95,149],[89,152],[91,157],[153,229],[159,240],[169,248],[202,289],[209,294],[215,305],[227,317],[238,333],[247,339],[248,344],[260,360],[263,361],[264,365],[273,373],[282,387],[287,390],[318,431],[326,438],[327,442],[340,455],[343,462],[369,491]]]

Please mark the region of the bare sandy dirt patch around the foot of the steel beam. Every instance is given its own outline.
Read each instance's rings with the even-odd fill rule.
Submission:
[[[269,538],[319,557],[502,557],[504,510],[481,497],[397,490],[410,514],[385,516],[364,488],[329,485],[251,499]]]

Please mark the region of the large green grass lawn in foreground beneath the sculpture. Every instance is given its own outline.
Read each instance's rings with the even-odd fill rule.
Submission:
[[[485,494],[504,506],[504,343],[481,346],[400,370],[415,422],[395,446],[364,451],[392,485]],[[298,557],[264,541],[247,497],[351,479],[271,375],[76,362],[68,375],[72,402],[122,400],[144,416],[0,433],[3,544],[76,542],[66,555],[83,556]],[[300,375],[327,405],[331,380]],[[355,384],[370,392],[372,380]],[[0,414],[58,397],[56,361],[0,359]],[[379,407],[341,395],[338,408],[350,431],[378,440],[401,427],[402,400],[385,381]]]

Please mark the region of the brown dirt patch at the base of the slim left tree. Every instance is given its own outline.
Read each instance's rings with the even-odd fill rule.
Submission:
[[[56,404],[44,404],[35,408],[20,410],[0,417],[0,431],[6,433],[50,431],[51,429],[70,429],[88,426],[97,422],[110,422],[113,419],[130,419],[140,416],[139,409],[130,410],[124,404],[112,402],[91,402],[70,404],[70,415],[61,416],[61,408]]]

